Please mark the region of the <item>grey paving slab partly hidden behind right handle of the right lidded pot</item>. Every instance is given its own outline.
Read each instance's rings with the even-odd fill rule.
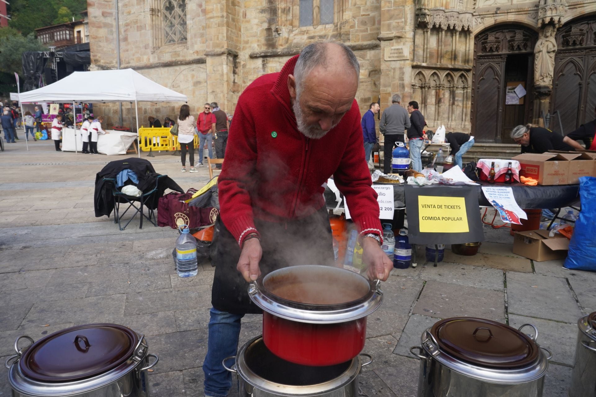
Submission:
[[[509,325],[519,328],[522,324],[533,324],[538,329],[538,344],[552,352],[550,362],[573,365],[575,357],[575,344],[578,335],[576,324],[558,323],[557,321],[541,320],[539,318],[523,317],[510,314]],[[522,331],[533,335],[532,327],[524,327]]]

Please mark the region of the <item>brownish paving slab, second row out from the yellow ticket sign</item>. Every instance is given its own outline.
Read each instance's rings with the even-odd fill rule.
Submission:
[[[501,291],[429,281],[414,314],[432,317],[480,317],[505,322],[505,295]]]

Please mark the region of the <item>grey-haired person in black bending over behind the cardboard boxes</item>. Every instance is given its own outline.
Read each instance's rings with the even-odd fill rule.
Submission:
[[[522,145],[522,153],[544,153],[550,150],[575,151],[563,142],[563,136],[558,132],[532,124],[517,126],[511,130],[511,139]]]

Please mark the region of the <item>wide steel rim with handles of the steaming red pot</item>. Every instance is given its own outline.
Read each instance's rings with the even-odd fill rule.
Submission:
[[[331,268],[334,269],[333,271],[346,271],[352,273],[349,270],[322,265],[298,265],[294,267],[303,268],[312,266],[321,268],[323,271]],[[383,291],[380,289],[380,280],[371,282],[370,280],[365,279],[369,284],[369,291],[357,301],[341,305],[307,305],[287,301],[268,292],[263,285],[266,277],[267,276],[259,277],[255,282],[250,283],[250,299],[252,299],[254,304],[266,312],[277,315],[277,317],[285,318],[286,320],[298,321],[300,323],[334,324],[357,320],[358,318],[372,314],[378,307],[380,307],[381,302],[383,301]]]

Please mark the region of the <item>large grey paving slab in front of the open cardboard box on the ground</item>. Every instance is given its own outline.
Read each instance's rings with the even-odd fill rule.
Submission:
[[[565,279],[507,272],[509,312],[575,323],[582,312]]]

